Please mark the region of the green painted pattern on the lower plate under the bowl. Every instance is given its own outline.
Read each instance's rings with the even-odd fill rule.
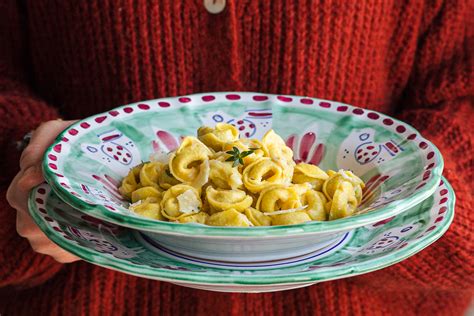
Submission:
[[[298,266],[268,270],[204,268],[165,258],[149,251],[136,239],[133,230],[84,220],[81,212],[63,203],[46,184],[32,191],[29,210],[34,221],[53,242],[106,268],[157,280],[196,284],[304,283],[375,271],[400,262],[436,241],[449,228],[454,216],[455,195],[446,179],[443,181],[433,196],[390,222],[356,229],[351,241],[331,256]],[[38,198],[45,202],[39,203]],[[40,208],[47,214],[41,213]],[[81,231],[82,237],[74,233],[77,230]],[[397,237],[397,242],[386,246],[384,240],[388,237]],[[97,243],[90,240],[99,240],[102,251],[107,249],[107,243],[117,250],[112,254],[102,253],[98,251]]]

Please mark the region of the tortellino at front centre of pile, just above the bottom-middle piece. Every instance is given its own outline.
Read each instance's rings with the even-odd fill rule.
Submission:
[[[210,212],[216,213],[228,209],[243,212],[252,205],[253,199],[242,190],[221,190],[209,186],[206,189],[206,200]]]

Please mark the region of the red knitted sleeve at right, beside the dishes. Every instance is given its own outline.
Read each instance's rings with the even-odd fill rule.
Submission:
[[[456,210],[436,243],[391,268],[358,278],[391,290],[474,290],[472,25],[465,1],[446,1],[419,41],[400,118],[441,151]],[[470,47],[470,48],[469,48]]]

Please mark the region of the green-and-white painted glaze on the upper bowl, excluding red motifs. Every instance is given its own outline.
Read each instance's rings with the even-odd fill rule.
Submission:
[[[81,122],[78,122],[63,132],[45,153],[43,169],[46,180],[61,199],[80,211],[127,227],[149,231],[207,236],[246,236],[249,234],[252,236],[277,236],[288,233],[336,232],[383,220],[399,214],[431,196],[436,190],[437,183],[441,177],[443,159],[436,147],[426,139],[423,139],[412,127],[396,119],[391,118],[394,122],[393,126],[385,126],[381,121],[383,118],[388,117],[383,114],[378,113],[377,115],[380,116],[380,119],[373,121],[365,116],[350,114],[355,109],[354,107],[344,105],[348,107],[348,111],[340,113],[335,108],[342,106],[341,103],[327,101],[331,102],[332,107],[331,109],[326,109],[315,105],[300,104],[296,100],[301,98],[294,96],[292,98],[295,102],[286,103],[278,100],[275,95],[266,95],[269,98],[268,101],[255,102],[251,99],[251,96],[254,95],[252,93],[239,93],[242,97],[239,101],[226,100],[224,98],[226,93],[214,93],[212,95],[216,96],[215,101],[203,102],[201,101],[201,96],[203,95],[205,94],[189,96],[192,99],[191,102],[184,105],[179,104],[178,98],[141,102],[151,107],[148,111],[138,110],[138,103],[123,106],[115,109],[117,112],[120,112],[120,115],[117,117],[111,117],[107,113],[103,113],[81,121],[90,123],[91,127],[87,130],[81,129]],[[168,108],[158,107],[156,104],[163,100],[169,102],[172,106]],[[325,101],[312,100],[314,100],[314,104]],[[123,109],[126,107],[131,107],[135,110],[131,114],[125,114]],[[131,140],[140,154],[140,160],[148,160],[149,155],[152,153],[153,128],[165,130],[178,137],[180,135],[194,134],[199,126],[209,122],[208,118],[213,113],[222,112],[228,117],[236,118],[242,116],[248,110],[264,109],[272,111],[273,128],[284,138],[292,134],[297,134],[301,138],[302,134],[307,131],[307,128],[312,126],[312,131],[317,135],[317,142],[323,143],[326,148],[325,155],[320,164],[322,168],[352,169],[366,181],[378,173],[390,174],[390,178],[377,189],[375,197],[380,197],[381,194],[399,188],[403,189],[403,192],[393,197],[392,200],[389,199],[386,205],[372,203],[372,206],[369,205],[369,207],[373,210],[350,218],[330,222],[310,222],[293,226],[264,228],[220,228],[160,222],[129,212],[126,204],[114,204],[116,211],[111,211],[104,207],[105,202],[96,196],[87,196],[87,198],[95,203],[90,204],[84,202],[84,199],[69,193],[70,190],[81,193],[81,184],[87,185],[90,188],[100,189],[100,185],[91,177],[92,174],[107,174],[115,179],[121,179],[129,170],[130,166],[115,168],[98,158],[91,158],[84,154],[81,144],[90,144],[95,147],[101,145],[97,135],[117,130]],[[376,113],[374,111],[370,112]],[[104,123],[96,124],[94,119],[103,115],[108,115]],[[395,132],[394,127],[398,125],[403,126],[407,132],[402,134]],[[79,130],[79,134],[71,136],[68,134],[68,131],[71,129]],[[398,153],[394,159],[379,165],[373,164],[370,168],[357,164],[346,165],[344,161],[339,162],[338,159],[341,156],[341,146],[344,140],[349,137],[349,140],[352,141],[350,135],[363,129],[370,129],[375,133],[373,136],[375,142],[393,141],[394,143],[401,144],[404,151]],[[415,141],[406,140],[406,135],[409,133],[416,135]],[[64,136],[70,138],[69,142],[61,141]],[[357,140],[354,139],[355,141]],[[434,157],[432,161],[435,163],[429,178],[425,181],[425,185],[421,189],[415,190],[415,187],[423,181],[422,177],[428,164],[424,158],[428,151],[421,150],[418,146],[422,141],[429,146],[430,151],[433,151]],[[57,144],[63,146],[60,154],[54,152],[54,146]],[[55,176],[57,171],[50,167],[51,161],[48,161],[49,154],[56,154],[58,156],[58,171],[64,174],[65,178]],[[139,161],[136,161],[134,165],[138,163]],[[71,189],[66,189],[60,185],[63,181],[68,181],[67,184]],[[110,197],[110,194],[105,193],[106,196]],[[81,195],[84,196],[83,193]]]

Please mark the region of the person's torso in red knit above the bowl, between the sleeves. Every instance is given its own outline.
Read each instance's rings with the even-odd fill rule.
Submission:
[[[65,117],[152,98],[259,91],[390,112],[410,76],[423,3],[27,2],[38,93]]]

